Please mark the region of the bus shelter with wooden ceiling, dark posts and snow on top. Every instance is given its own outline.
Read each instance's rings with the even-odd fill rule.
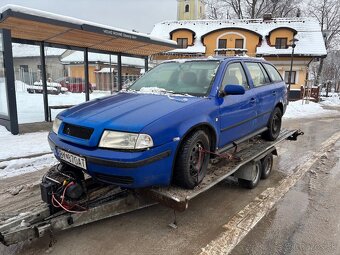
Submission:
[[[0,125],[19,133],[12,43],[39,45],[45,121],[49,121],[45,47],[82,51],[85,100],[89,96],[89,52],[117,56],[118,90],[122,87],[122,56],[142,58],[177,47],[170,40],[15,5],[0,8]]]

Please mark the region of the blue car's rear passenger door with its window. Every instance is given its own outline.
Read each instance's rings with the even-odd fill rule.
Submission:
[[[266,127],[276,103],[275,85],[259,62],[246,62],[256,98],[256,129]]]

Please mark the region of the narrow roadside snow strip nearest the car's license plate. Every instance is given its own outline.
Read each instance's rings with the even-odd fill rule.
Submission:
[[[0,180],[51,167],[57,164],[53,154],[0,162]]]

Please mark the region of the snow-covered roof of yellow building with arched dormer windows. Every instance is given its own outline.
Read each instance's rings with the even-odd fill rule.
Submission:
[[[269,46],[266,37],[277,28],[291,28],[297,32],[295,54],[306,56],[324,56],[327,54],[321,27],[312,18],[276,18],[269,21],[263,19],[233,19],[233,20],[183,20],[164,21],[154,26],[151,34],[164,39],[170,39],[170,33],[177,29],[189,29],[195,33],[193,46],[186,49],[171,50],[170,53],[205,53],[202,36],[223,28],[241,28],[250,30],[262,36],[262,43],[256,49],[259,55],[288,55],[292,48],[276,49]]]

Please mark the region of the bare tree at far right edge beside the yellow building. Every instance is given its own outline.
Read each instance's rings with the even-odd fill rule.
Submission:
[[[340,35],[340,2],[338,0],[311,0],[308,6],[307,13],[320,23],[328,51],[334,47],[333,43]],[[322,58],[315,79],[316,85],[320,83],[323,66],[324,59]]]

